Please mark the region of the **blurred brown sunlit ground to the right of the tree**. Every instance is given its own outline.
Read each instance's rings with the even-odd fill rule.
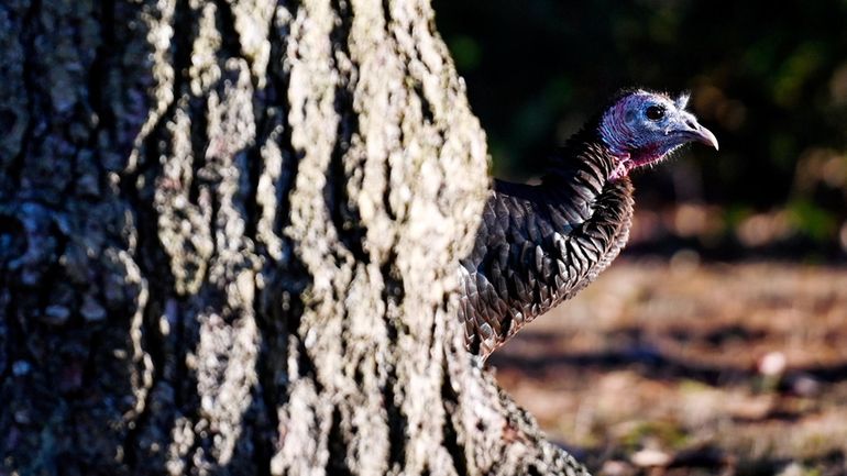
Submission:
[[[622,258],[490,363],[596,475],[847,475],[847,268]]]

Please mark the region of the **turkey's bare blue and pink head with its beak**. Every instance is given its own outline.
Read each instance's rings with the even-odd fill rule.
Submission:
[[[688,95],[671,99],[667,95],[638,90],[606,110],[600,135],[618,160],[609,179],[659,162],[689,142],[701,142],[717,150],[715,134],[685,110],[688,102]]]

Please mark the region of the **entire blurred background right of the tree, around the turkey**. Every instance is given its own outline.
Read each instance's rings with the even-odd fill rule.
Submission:
[[[433,4],[497,177],[624,87],[721,142],[635,175],[629,246],[501,381],[598,474],[847,474],[847,2]]]

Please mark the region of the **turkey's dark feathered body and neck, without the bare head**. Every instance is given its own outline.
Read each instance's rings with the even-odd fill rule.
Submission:
[[[626,244],[628,177],[592,130],[572,139],[536,186],[495,181],[473,252],[460,262],[460,319],[483,358],[596,278]]]

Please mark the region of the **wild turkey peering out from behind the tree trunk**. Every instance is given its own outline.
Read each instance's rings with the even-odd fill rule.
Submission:
[[[495,180],[473,252],[461,261],[460,317],[486,358],[524,324],[587,286],[626,244],[630,170],[717,140],[685,111],[689,96],[619,95],[571,137],[538,186]]]

